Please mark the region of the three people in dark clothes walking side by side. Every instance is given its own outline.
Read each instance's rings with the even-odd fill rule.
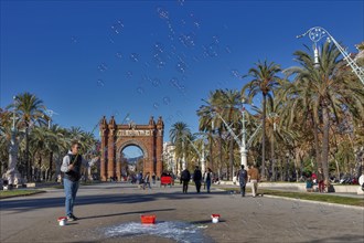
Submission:
[[[210,193],[213,177],[214,177],[214,173],[212,172],[212,170],[210,168],[207,168],[207,170],[204,172],[204,175],[202,175],[200,167],[199,166],[195,167],[192,179],[195,183],[197,193],[201,192],[202,182],[204,183],[204,189],[206,188],[207,193]],[[191,180],[191,173],[190,173],[189,169],[186,168],[181,173],[181,183],[183,184],[182,186],[183,193],[188,193],[190,180]]]

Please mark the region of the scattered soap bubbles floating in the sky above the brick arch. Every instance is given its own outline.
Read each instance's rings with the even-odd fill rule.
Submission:
[[[184,6],[184,0],[178,0],[178,4]],[[175,91],[178,91],[182,96],[185,97],[186,95],[186,86],[185,86],[185,78],[188,71],[193,68],[193,65],[189,65],[190,62],[200,62],[201,57],[217,57],[221,53],[221,50],[225,50],[226,53],[231,53],[229,46],[221,46],[222,41],[218,36],[218,34],[212,35],[212,38],[207,41],[210,44],[199,45],[197,43],[197,33],[200,34],[201,29],[201,21],[196,18],[194,13],[188,13],[184,19],[181,19],[180,21],[173,20],[173,15],[171,12],[165,9],[164,7],[157,7],[157,18],[162,20],[167,24],[168,30],[168,36],[170,39],[170,43],[162,43],[156,40],[156,42],[152,45],[152,52],[151,52],[151,60],[150,62],[143,61],[144,67],[149,70],[150,65],[157,67],[157,70],[162,70],[167,67],[167,63],[174,63],[171,66],[176,72],[176,76],[173,76],[169,81],[169,85],[173,87]],[[174,25],[173,25],[173,24]],[[110,27],[111,34],[109,35],[109,41],[111,43],[115,43],[115,39],[118,34],[122,33],[124,31],[124,22],[121,20],[115,21],[114,24]],[[181,30],[178,30],[179,28],[182,28]],[[200,39],[199,39],[200,41]],[[178,47],[183,46],[184,52],[186,52],[188,55],[185,55],[183,52],[179,52]],[[116,50],[117,51],[117,50]],[[120,51],[115,52],[116,59],[129,59],[132,63],[140,63],[140,56],[138,53],[133,52],[128,54],[122,54]],[[100,63],[98,65],[99,72],[106,72],[108,70],[108,66],[106,63]],[[131,78],[133,76],[132,71],[125,71],[126,78]],[[238,77],[239,73],[237,70],[231,71],[232,75],[234,77]],[[151,84],[152,87],[159,88],[163,84],[159,77],[149,77],[148,75],[143,77],[147,83],[139,83],[138,86],[136,86],[136,92],[139,95],[144,96],[146,95],[146,84]],[[168,82],[167,82],[168,84]],[[218,83],[220,88],[224,88],[227,85],[227,81],[223,81]],[[97,80],[97,86],[105,86],[105,82],[99,78]],[[154,101],[152,102],[152,107],[154,109],[161,108],[161,106],[171,105],[172,101],[170,96],[163,96],[161,95],[161,101]],[[173,99],[174,104],[174,99]],[[165,119],[167,123],[171,123],[175,118],[183,118],[182,113],[178,110],[174,116],[170,115]]]

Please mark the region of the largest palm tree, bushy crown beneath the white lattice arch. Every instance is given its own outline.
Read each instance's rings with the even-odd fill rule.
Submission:
[[[340,59],[340,51],[334,44],[325,42],[319,56],[320,65],[314,65],[314,57],[304,51],[295,52],[296,60],[301,66],[293,66],[285,71],[296,75],[290,93],[297,101],[310,110],[314,133],[322,133],[321,155],[319,138],[317,140],[317,157],[322,166],[324,178],[329,178],[329,144],[330,127],[340,120],[340,113],[349,110],[356,117],[364,119],[364,89],[358,78],[347,78],[345,63]],[[320,161],[321,160],[321,161]]]

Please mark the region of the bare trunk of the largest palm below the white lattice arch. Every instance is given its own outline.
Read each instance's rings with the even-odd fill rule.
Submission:
[[[322,142],[322,172],[324,179],[329,179],[329,131],[330,131],[330,117],[326,106],[322,107],[323,120],[323,142]]]

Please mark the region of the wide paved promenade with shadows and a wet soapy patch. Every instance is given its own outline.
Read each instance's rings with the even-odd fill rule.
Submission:
[[[179,184],[140,190],[126,183],[79,188],[79,221],[60,226],[62,189],[1,200],[0,242],[363,242],[364,210]],[[211,214],[221,222],[212,223]],[[141,214],[156,214],[143,226]]]

